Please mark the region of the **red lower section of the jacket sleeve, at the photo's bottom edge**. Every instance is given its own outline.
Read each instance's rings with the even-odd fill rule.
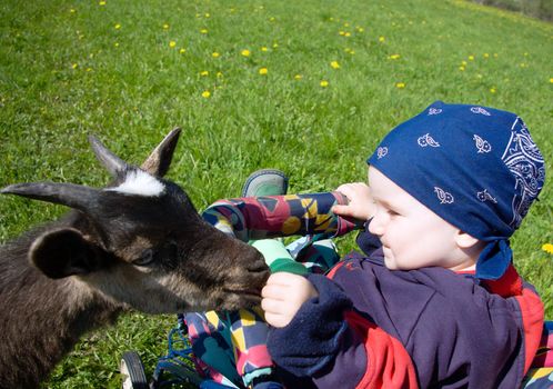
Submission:
[[[366,350],[365,375],[356,388],[419,388],[416,373],[403,345],[354,311],[345,313]]]

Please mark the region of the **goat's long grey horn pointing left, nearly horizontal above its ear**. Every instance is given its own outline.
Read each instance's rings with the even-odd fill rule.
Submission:
[[[17,194],[86,210],[98,196],[98,190],[73,183],[29,182],[8,186],[1,189],[0,193]]]

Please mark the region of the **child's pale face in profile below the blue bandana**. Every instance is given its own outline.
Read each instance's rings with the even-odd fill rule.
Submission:
[[[458,228],[373,167],[369,168],[369,184],[376,206],[369,230],[380,238],[389,269],[460,268],[454,239]]]

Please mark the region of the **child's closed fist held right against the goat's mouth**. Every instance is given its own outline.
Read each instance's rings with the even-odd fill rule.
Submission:
[[[318,296],[316,289],[304,277],[290,272],[271,275],[261,291],[265,321],[273,327],[285,327],[305,301]]]

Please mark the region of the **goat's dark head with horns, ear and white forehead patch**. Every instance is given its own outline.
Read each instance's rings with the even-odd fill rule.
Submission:
[[[90,138],[113,176],[94,189],[71,183],[19,183],[1,190],[76,211],[67,227],[47,229],[29,250],[47,277],[73,277],[145,312],[237,309],[260,302],[268,268],[259,252],[204,222],[187,193],[162,179],[180,130],[141,168]]]

